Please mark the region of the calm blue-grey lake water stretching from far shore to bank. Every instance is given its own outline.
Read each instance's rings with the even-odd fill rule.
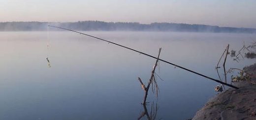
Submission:
[[[255,34],[188,32],[86,32],[218,78],[216,64],[227,44],[238,50]],[[1,120],[136,120],[144,111],[145,83],[154,59],[72,32],[0,32]],[[47,49],[47,43],[50,48]],[[47,66],[49,57],[51,68]],[[226,68],[243,68],[227,58]],[[217,94],[214,81],[160,62],[157,118],[192,118]],[[223,77],[223,76],[222,76]],[[230,79],[230,76],[228,76]],[[148,106],[150,109],[150,105]]]

